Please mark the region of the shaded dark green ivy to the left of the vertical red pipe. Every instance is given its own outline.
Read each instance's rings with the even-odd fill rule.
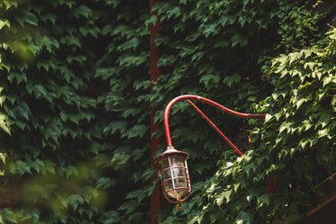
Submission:
[[[119,212],[123,223],[149,220],[122,206],[127,196],[150,208],[138,203],[143,195],[126,195],[152,173],[148,7],[1,2],[1,182],[20,188],[1,222],[121,223]]]

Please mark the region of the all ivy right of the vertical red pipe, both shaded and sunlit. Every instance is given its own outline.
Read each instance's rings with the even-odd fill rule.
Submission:
[[[300,141],[304,142],[304,147],[313,148],[309,144],[312,139],[284,131],[286,125],[293,125],[288,122],[292,116],[288,112],[293,112],[291,108],[295,108],[295,103],[301,105],[307,97],[301,93],[297,99],[294,96],[279,101],[270,102],[270,99],[275,95],[280,97],[286,88],[288,94],[296,93],[300,82],[304,82],[303,76],[297,76],[296,80],[290,76],[278,78],[277,75],[298,73],[295,69],[300,68],[293,64],[299,59],[298,55],[302,59],[299,63],[305,63],[304,60],[308,63],[317,58],[302,52],[324,48],[325,42],[320,41],[322,35],[319,33],[322,15],[312,10],[318,4],[322,2],[165,1],[157,4],[158,19],[163,24],[157,41],[164,52],[159,65],[165,72],[155,89],[159,100],[165,94],[170,99],[177,94],[202,94],[238,111],[267,113],[265,123],[244,122],[202,107],[245,150],[245,156],[238,157],[222,139],[215,138],[215,132],[206,127],[187,105],[180,103],[172,109],[176,114],[180,113],[177,116],[185,117],[186,113],[191,116],[190,120],[183,121],[174,118],[173,113],[171,126],[173,144],[176,141],[176,148],[190,155],[193,193],[180,211],[173,208],[160,211],[161,223],[293,223],[317,204],[312,196],[316,193],[313,189],[334,172],[332,150],[325,149],[325,154],[319,156],[318,161],[321,162],[323,157],[328,160],[327,165],[313,160],[313,156],[300,160],[302,155],[283,149],[291,144],[298,145]],[[295,50],[298,53],[289,54]],[[283,58],[293,55],[286,60],[290,65],[276,63],[281,54],[284,54]],[[321,69],[324,67],[322,64]],[[306,71],[304,76],[309,72]],[[319,93],[323,87],[319,87]],[[309,91],[317,93],[316,89]],[[299,92],[297,90],[297,94]],[[303,119],[306,120],[304,110],[317,112],[323,106],[307,104],[305,109],[298,108],[298,112],[293,112],[298,119],[295,127],[299,129]],[[283,118],[285,126],[279,129],[282,123],[277,119],[280,114],[277,110],[281,111],[281,108],[286,108],[283,110],[287,115]],[[304,123],[308,125],[314,121],[318,122],[318,118]],[[250,137],[249,150],[248,144],[241,144],[247,143],[248,139],[242,137],[244,131],[255,126],[259,129]],[[321,125],[315,124],[315,127],[315,132],[320,131]],[[304,130],[301,128],[300,133]],[[295,140],[299,142],[295,143]],[[283,150],[289,151],[286,157]],[[313,166],[315,172],[306,179],[302,176],[307,165]],[[325,169],[328,172],[324,172]],[[291,183],[292,180],[295,182]]]

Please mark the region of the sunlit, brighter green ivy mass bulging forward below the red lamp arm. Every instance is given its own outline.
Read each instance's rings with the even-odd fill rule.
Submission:
[[[318,186],[336,169],[335,33],[326,45],[273,60],[275,91],[257,106],[267,117],[252,131],[251,150],[223,157],[213,178],[196,186],[181,211],[188,223],[295,223],[326,196]]]

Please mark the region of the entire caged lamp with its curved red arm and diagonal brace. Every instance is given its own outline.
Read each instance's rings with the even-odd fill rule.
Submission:
[[[223,112],[227,112],[229,114],[242,118],[265,118],[265,114],[235,112],[230,110],[229,108],[222,106],[219,103],[213,102],[212,100],[192,94],[177,96],[170,103],[168,103],[164,113],[167,150],[155,158],[155,165],[159,169],[163,195],[168,200],[168,202],[178,203],[177,209],[179,209],[182,202],[186,201],[187,197],[191,193],[190,177],[186,165],[186,158],[188,157],[188,154],[186,152],[179,151],[173,147],[168,125],[169,110],[174,103],[177,103],[177,101],[180,100],[186,100],[187,103],[191,104],[195,108],[196,112],[200,113],[204,120],[207,121],[213,127],[213,129],[216,130],[222,136],[222,138],[225,139],[226,142],[229,143],[229,145],[237,151],[240,156],[243,155],[241,151],[237,147],[235,147],[232,141],[230,141],[230,139],[228,139],[222,133],[222,131],[219,130],[212,121],[210,121],[210,119],[204,114],[204,112],[202,112],[190,100],[207,103],[209,105],[212,105],[213,107],[216,107],[219,110],[222,110]]]

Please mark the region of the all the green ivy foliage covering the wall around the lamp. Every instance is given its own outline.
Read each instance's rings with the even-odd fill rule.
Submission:
[[[320,41],[317,4],[162,1],[150,17],[146,1],[4,0],[1,183],[21,193],[0,222],[150,223],[150,106],[162,121],[179,94],[268,115],[242,121],[197,104],[238,157],[187,103],[174,105],[173,144],[189,153],[193,193],[180,211],[167,203],[159,222],[299,220],[336,169],[336,34]],[[151,92],[150,22],[160,22],[163,73]]]

